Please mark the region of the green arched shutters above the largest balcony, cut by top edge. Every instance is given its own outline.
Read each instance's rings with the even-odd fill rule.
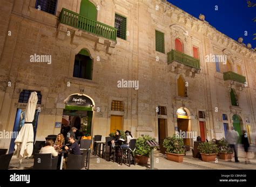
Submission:
[[[97,20],[96,6],[92,4],[89,0],[81,0],[79,14],[85,16],[86,18]]]

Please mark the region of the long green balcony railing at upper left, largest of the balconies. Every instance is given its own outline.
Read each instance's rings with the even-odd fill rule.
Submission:
[[[79,28],[80,30],[99,35],[100,37],[114,41],[117,40],[117,28],[86,18],[68,9],[62,9],[59,21],[60,23]]]

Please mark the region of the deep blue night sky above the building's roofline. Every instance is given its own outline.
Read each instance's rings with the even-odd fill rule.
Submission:
[[[244,38],[244,44],[252,44],[256,47],[256,40],[253,40],[253,33],[256,33],[256,6],[248,8],[246,0],[167,0],[190,15],[198,18],[205,15],[205,20],[218,31],[237,41],[239,37]],[[255,0],[251,2],[256,3]],[[215,5],[218,10],[215,11]],[[245,31],[248,35],[245,36]]]

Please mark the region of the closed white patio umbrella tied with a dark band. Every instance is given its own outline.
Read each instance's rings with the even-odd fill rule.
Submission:
[[[15,140],[14,154],[19,160],[19,167],[21,167],[22,159],[30,157],[33,152],[34,131],[32,121],[35,117],[37,100],[37,92],[31,92],[28,105],[26,105],[25,124],[22,126]]]

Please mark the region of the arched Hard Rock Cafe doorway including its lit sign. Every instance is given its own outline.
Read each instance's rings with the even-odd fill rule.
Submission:
[[[76,138],[82,135],[92,135],[92,114],[95,103],[89,96],[75,93],[64,100],[65,109],[63,110],[63,118],[68,119],[69,125],[64,124],[62,127],[63,135],[65,129],[76,127]],[[64,121],[64,120],[63,120]]]

